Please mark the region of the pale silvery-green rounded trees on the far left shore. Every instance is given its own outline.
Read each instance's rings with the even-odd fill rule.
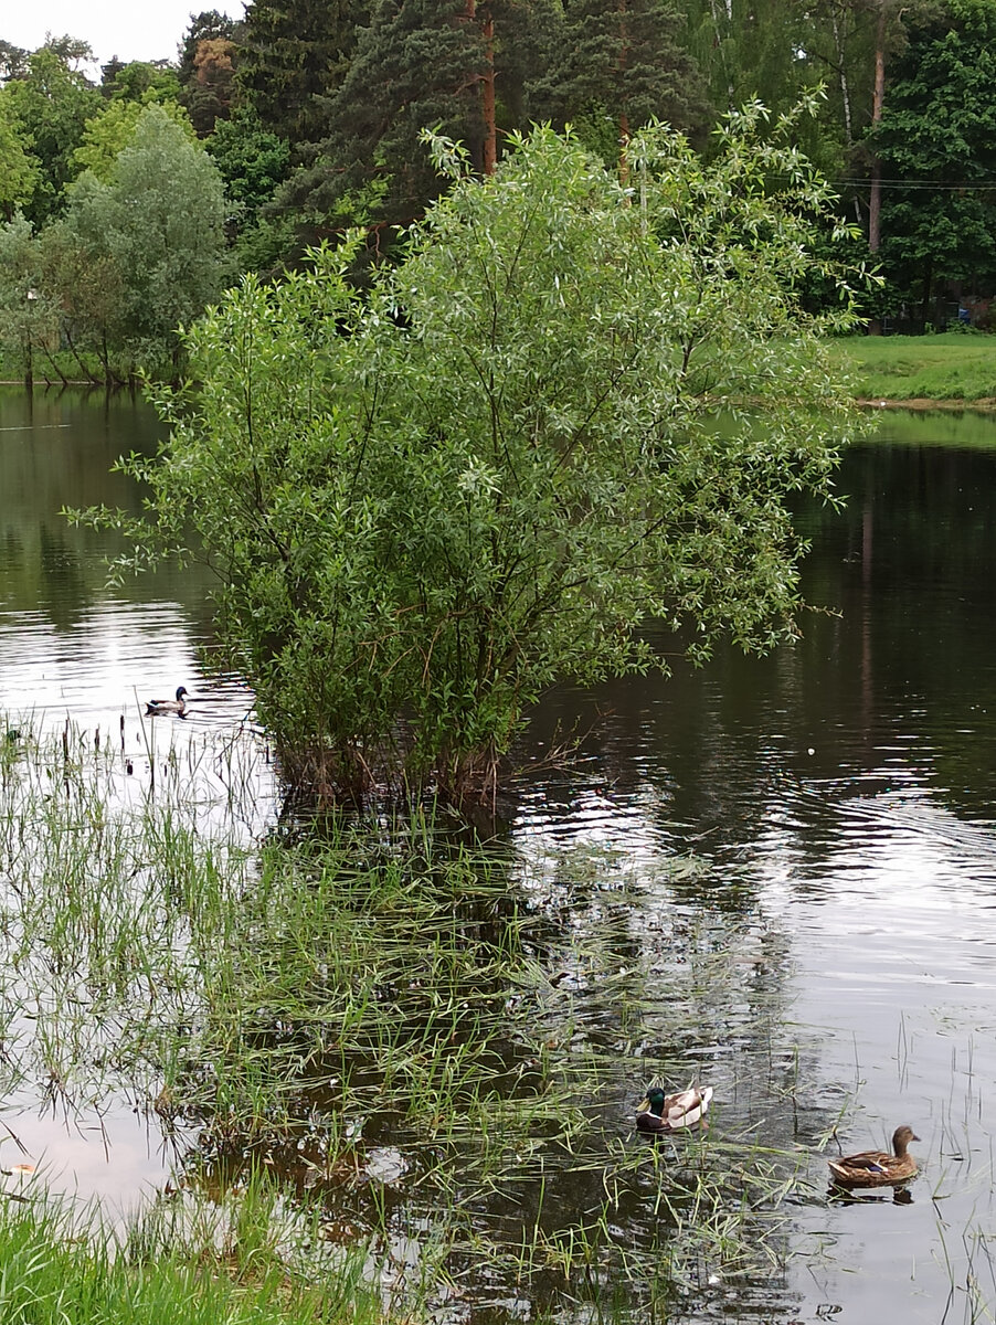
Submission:
[[[75,180],[64,217],[37,236],[21,216],[0,225],[0,254],[17,254],[0,260],[0,341],[25,360],[32,342],[52,351],[65,339],[97,355],[107,380],[139,366],[170,374],[179,327],[221,292],[221,176],[176,114],[136,111],[110,121],[130,126],[117,156],[85,139],[99,170]]]

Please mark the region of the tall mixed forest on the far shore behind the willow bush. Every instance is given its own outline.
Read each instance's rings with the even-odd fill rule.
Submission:
[[[175,64],[93,68],[0,40],[9,371],[174,376],[179,326],[348,227],[362,278],[446,187],[426,126],[489,174],[510,131],[570,123],[625,180],[652,119],[709,156],[722,114],[759,98],[773,129],[816,86],[797,146],[881,265],[872,330],[988,327],[996,0],[254,0],[192,16]]]

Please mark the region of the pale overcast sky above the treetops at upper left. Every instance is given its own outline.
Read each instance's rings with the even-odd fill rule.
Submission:
[[[36,50],[46,33],[82,37],[98,64],[176,60],[191,13],[220,9],[241,19],[242,0],[8,0],[0,9],[0,40]]]

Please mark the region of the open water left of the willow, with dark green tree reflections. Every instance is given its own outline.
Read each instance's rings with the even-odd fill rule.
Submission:
[[[0,702],[49,725],[117,729],[139,701],[203,682],[209,578],[164,567],[114,594],[106,559],[114,535],[72,527],[64,506],[142,509],[136,484],[110,469],[121,454],[155,449],[162,428],[142,400],[0,388]],[[193,682],[193,684],[192,684]],[[245,692],[208,686],[244,712]],[[200,710],[197,710],[200,712]],[[241,713],[240,713],[241,716]]]

